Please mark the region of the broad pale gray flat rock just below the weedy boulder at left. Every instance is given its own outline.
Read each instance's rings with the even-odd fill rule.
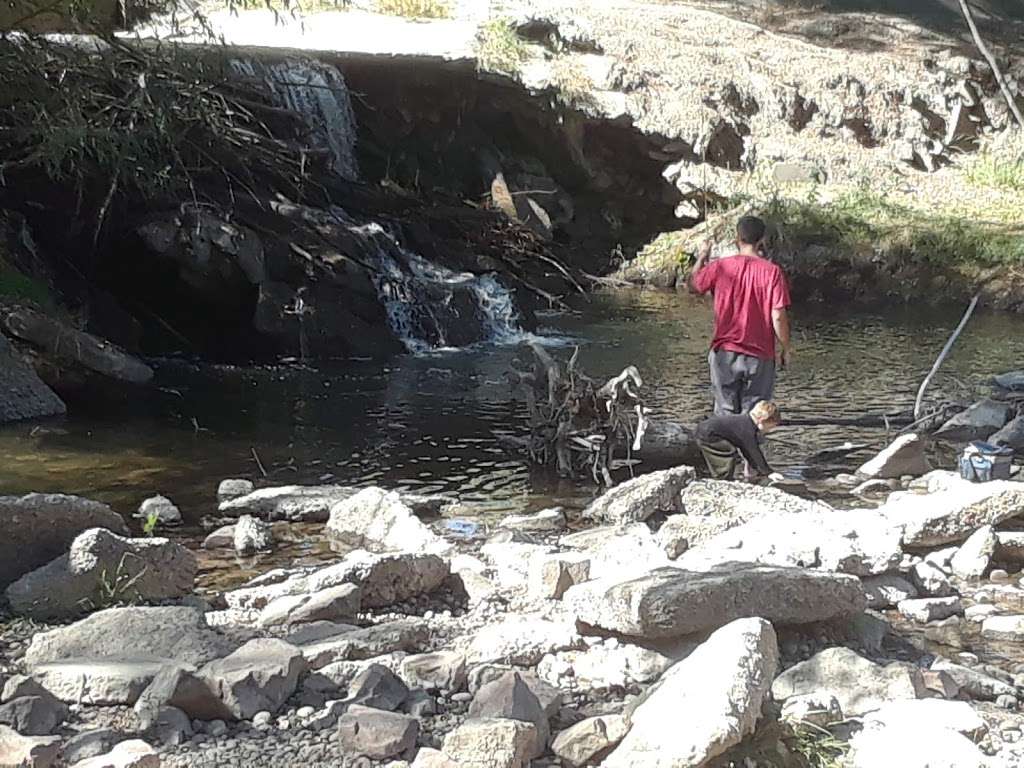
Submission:
[[[211,630],[199,608],[186,606],[106,608],[80,622],[36,633],[25,654],[31,668],[71,658],[142,657],[200,666],[230,651],[232,644]]]

